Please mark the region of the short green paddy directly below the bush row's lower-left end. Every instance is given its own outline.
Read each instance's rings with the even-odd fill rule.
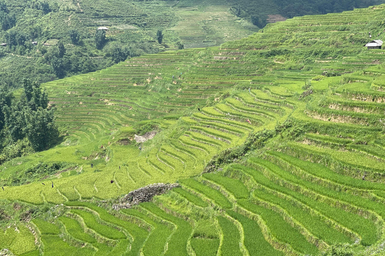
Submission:
[[[229,178],[229,177],[225,177],[214,173],[204,173],[203,177],[222,185],[226,190],[232,193],[237,199],[249,197],[249,190],[238,179]]]

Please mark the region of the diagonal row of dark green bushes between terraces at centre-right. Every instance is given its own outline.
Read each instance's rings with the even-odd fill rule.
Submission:
[[[257,133],[251,133],[246,142],[242,145],[225,149],[214,156],[206,165],[205,172],[214,171],[218,166],[233,162],[234,159],[238,159],[250,150],[263,147],[266,141],[275,134],[276,132],[273,130],[263,130]]]

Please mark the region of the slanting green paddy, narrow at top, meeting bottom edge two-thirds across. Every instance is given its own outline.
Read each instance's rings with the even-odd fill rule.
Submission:
[[[257,221],[233,210],[227,210],[226,212],[242,224],[243,231],[245,233],[244,243],[250,253],[250,256],[284,255],[281,251],[276,250],[268,241],[266,241]]]

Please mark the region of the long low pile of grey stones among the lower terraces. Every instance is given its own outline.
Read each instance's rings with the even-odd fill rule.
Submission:
[[[177,183],[155,183],[140,187],[123,196],[120,199],[120,203],[112,205],[112,208],[114,208],[115,210],[131,208],[133,204],[151,201],[152,197],[154,197],[155,195],[163,194],[166,191],[177,186],[179,186],[179,184]]]

